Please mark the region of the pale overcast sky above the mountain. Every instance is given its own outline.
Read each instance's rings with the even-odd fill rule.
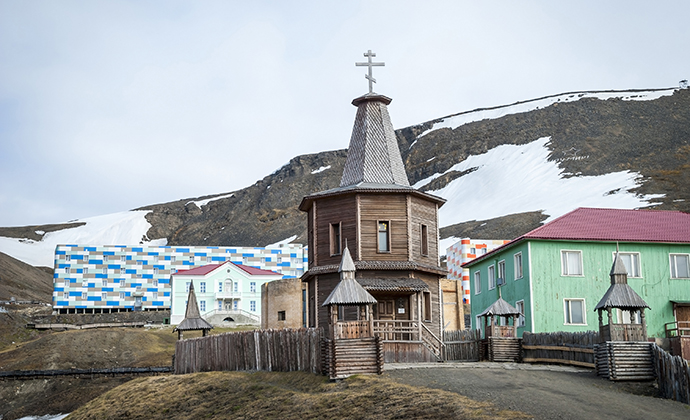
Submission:
[[[602,3],[604,3],[602,5]],[[690,78],[684,1],[0,0],[0,226],[234,191],[396,128]],[[316,169],[316,168],[314,168]]]

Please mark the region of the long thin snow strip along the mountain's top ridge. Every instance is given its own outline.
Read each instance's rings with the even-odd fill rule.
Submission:
[[[417,139],[424,137],[434,130],[440,128],[450,128],[454,130],[461,125],[504,117],[506,115],[520,114],[523,112],[534,111],[536,109],[546,108],[555,103],[574,102],[584,98],[595,98],[602,101],[608,99],[621,99],[624,101],[651,101],[662,96],[673,95],[676,89],[659,89],[649,91],[603,91],[603,92],[572,92],[560,95],[547,96],[544,98],[533,99],[530,101],[518,102],[513,105],[503,105],[493,108],[478,109],[474,111],[463,112],[441,119],[439,122],[425,130]],[[415,145],[417,140],[412,142],[410,149]]]

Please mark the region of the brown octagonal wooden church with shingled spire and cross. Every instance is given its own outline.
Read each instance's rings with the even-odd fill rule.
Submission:
[[[369,93],[352,101],[357,116],[340,186],[308,195],[299,206],[308,218],[307,324],[337,335],[343,329],[334,322],[362,320],[356,305],[340,305],[335,316],[324,306],[341,281],[347,247],[354,278],[376,300],[371,331],[385,361],[437,361],[443,357],[440,279],[446,276],[438,209],[445,200],[410,186],[388,114],[391,99],[372,91],[371,66],[382,63],[372,63],[371,52],[365,56],[369,63],[358,65],[369,66]]]

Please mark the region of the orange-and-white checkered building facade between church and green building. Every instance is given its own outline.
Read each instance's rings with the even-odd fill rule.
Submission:
[[[448,278],[462,281],[462,303],[470,303],[470,271],[461,265],[508,242],[510,241],[501,239],[464,238],[446,250]]]

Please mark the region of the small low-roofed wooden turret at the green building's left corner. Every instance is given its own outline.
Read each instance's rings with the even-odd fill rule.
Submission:
[[[519,316],[520,311],[502,297],[479,314],[484,331],[481,344],[483,359],[491,362],[518,362],[520,360],[520,339],[517,337]]]

